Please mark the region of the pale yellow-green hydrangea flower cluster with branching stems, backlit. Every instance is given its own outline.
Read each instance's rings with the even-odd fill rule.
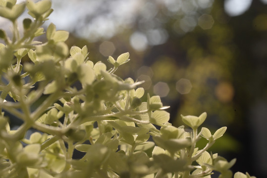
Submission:
[[[17,18],[25,8],[32,19],[23,20],[21,36]],[[130,60],[128,52],[109,56],[107,69],[89,59],[87,46],[69,49],[69,33],[54,24],[47,42],[34,41],[52,11],[50,0],[0,0],[0,16],[13,24],[12,38],[0,30],[1,178],[211,178],[214,171],[232,177],[235,159],[208,152],[226,127],[214,134],[199,129],[205,112],[182,116],[189,132],[172,126],[159,96],[144,96],[142,81],[114,74]],[[23,124],[11,131],[5,112]],[[26,139],[31,128],[38,132]],[[208,140],[204,148],[196,147],[201,137]],[[74,150],[82,158],[73,159]]]

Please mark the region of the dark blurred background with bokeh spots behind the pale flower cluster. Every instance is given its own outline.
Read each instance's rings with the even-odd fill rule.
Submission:
[[[145,80],[141,87],[170,106],[176,127],[181,114],[206,111],[204,127],[228,128],[210,151],[237,158],[234,172],[267,178],[267,0],[52,3],[45,27],[69,31],[69,47],[87,45],[90,60],[107,67],[109,55],[130,52],[117,75]]]

